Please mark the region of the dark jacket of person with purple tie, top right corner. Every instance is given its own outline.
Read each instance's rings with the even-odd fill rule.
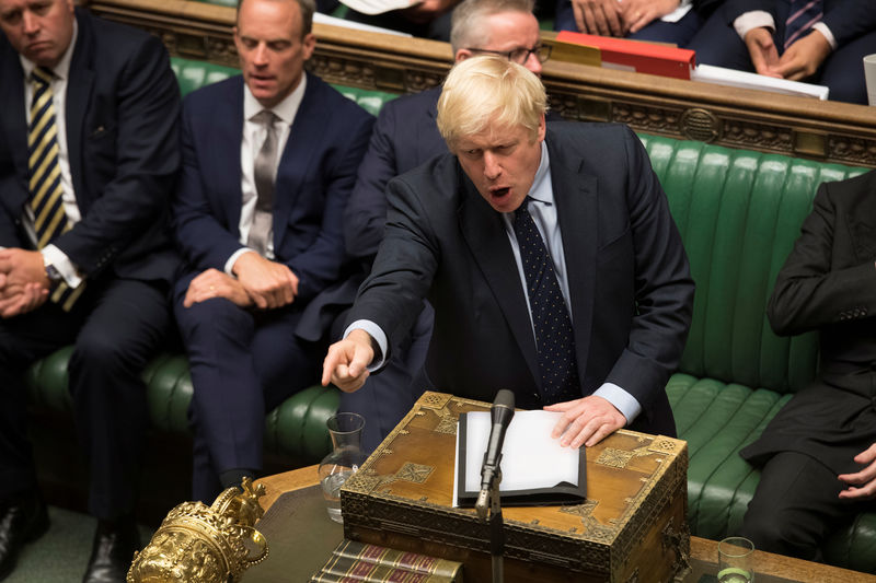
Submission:
[[[785,5],[784,10],[779,9],[781,4]],[[730,22],[752,10],[770,12],[780,36],[784,37],[785,23],[781,15],[787,14],[787,0],[727,0],[726,5]],[[839,46],[876,28],[876,10],[871,0],[825,0],[823,10],[821,22],[830,28]]]

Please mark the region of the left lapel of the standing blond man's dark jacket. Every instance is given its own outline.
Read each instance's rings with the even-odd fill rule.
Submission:
[[[541,385],[529,306],[502,215],[487,205],[462,170],[459,170],[459,179],[463,190],[459,209],[462,235],[511,328],[532,377]]]

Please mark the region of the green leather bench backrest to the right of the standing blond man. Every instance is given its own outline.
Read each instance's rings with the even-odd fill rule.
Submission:
[[[696,282],[680,372],[779,393],[814,376],[818,338],[780,338],[766,302],[818,185],[864,168],[642,135]]]

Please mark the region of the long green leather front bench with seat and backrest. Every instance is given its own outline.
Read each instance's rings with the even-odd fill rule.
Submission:
[[[173,59],[183,94],[237,70]],[[393,94],[338,88],[377,113]],[[779,338],[764,308],[775,276],[808,214],[816,187],[864,172],[747,150],[641,136],[679,225],[696,281],[694,317],[667,385],[679,435],[688,441],[692,534],[721,539],[741,522],[759,473],[738,456],[791,395],[815,374],[817,337]],[[69,408],[69,348],[30,372],[33,403]],[[145,372],[155,429],[186,431],[187,362],[162,355]],[[336,389],[308,388],[266,418],[266,451],[316,462],[328,450],[325,419]],[[876,573],[876,514],[834,534],[829,562]]]

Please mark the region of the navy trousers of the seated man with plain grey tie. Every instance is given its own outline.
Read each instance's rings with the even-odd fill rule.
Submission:
[[[174,310],[195,389],[192,487],[212,502],[220,474],[262,468],[266,412],[319,381],[323,354],[296,336],[295,304],[258,312],[220,298],[183,307],[193,277],[176,284]]]

